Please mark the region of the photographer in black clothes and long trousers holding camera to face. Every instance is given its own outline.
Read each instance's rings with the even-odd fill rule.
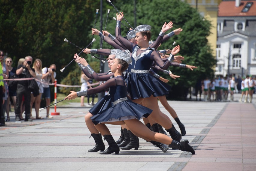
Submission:
[[[32,57],[31,56],[26,56],[25,61],[18,66],[16,70],[16,74],[18,78],[31,78],[35,77],[35,70],[30,67],[32,64]],[[22,102],[22,96],[24,95],[25,98],[25,122],[27,121],[33,121],[32,119],[29,118],[30,116],[30,90],[28,88],[28,80],[22,80],[18,81],[17,84],[17,98],[16,98],[16,105],[14,108],[15,112],[15,121],[20,121],[20,106]]]

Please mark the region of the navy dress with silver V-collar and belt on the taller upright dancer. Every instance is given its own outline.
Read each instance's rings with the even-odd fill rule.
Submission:
[[[133,47],[131,72],[126,79],[127,91],[131,99],[148,98],[167,95],[171,87],[149,73],[153,60],[150,55],[153,52],[148,48],[138,56],[139,46]]]

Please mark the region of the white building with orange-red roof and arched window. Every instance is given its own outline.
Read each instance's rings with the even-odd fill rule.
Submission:
[[[256,0],[222,1],[218,9],[215,75],[256,76]]]

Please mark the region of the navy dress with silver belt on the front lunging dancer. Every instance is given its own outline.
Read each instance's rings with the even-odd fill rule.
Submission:
[[[110,86],[109,94],[113,105],[91,117],[95,125],[102,122],[115,122],[129,119],[140,120],[148,117],[152,112],[151,109],[136,104],[127,98],[127,89],[122,76],[113,77],[104,84],[99,85],[98,87],[100,88],[98,88],[98,91],[102,88],[104,89],[103,86],[105,86],[105,88]],[[92,93],[89,92],[90,89],[88,89],[88,94]]]

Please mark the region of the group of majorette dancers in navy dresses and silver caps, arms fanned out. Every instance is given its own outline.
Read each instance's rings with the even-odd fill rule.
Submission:
[[[180,62],[184,57],[175,56],[180,50],[179,45],[170,51],[167,49],[170,53],[167,58],[164,58],[167,51],[162,52],[162,58],[156,49],[161,42],[173,35],[178,35],[182,29],[176,29],[165,35],[165,32],[172,28],[172,22],[165,23],[156,41],[149,46],[151,26],[140,25],[129,31],[124,38],[121,35],[122,19],[123,13],[117,14],[115,36],[106,31],[99,32],[92,29],[93,34],[99,35],[115,49],[84,50],[85,53],[108,55],[109,72],[95,73],[84,58],[77,54],[74,55],[75,61],[89,78],[105,81],[105,83],[83,91],[71,91],[71,94],[65,99],[71,100],[83,95],[108,91],[108,94],[100,99],[85,116],[87,128],[96,143],[95,147],[88,152],[100,151],[100,154],[118,154],[120,147],[126,150],[138,149],[138,137],[141,137],[163,152],[172,147],[172,149],[195,154],[188,140],[181,140],[182,135],[174,128],[171,119],[160,111],[157,101],[158,98],[165,97],[169,93],[170,86],[166,84],[168,80],[161,78],[154,70],[163,71],[175,78],[175,75],[166,69],[174,61]],[[187,67],[191,70],[196,68],[177,62],[173,65]],[[164,101],[164,98],[161,99]],[[175,121],[184,135],[186,134],[185,127],[176,116],[174,115]],[[140,119],[143,119],[144,124]],[[115,142],[105,124],[121,125],[122,134],[118,142]],[[162,127],[171,137],[166,133],[160,133]],[[109,145],[106,150],[102,135]]]

